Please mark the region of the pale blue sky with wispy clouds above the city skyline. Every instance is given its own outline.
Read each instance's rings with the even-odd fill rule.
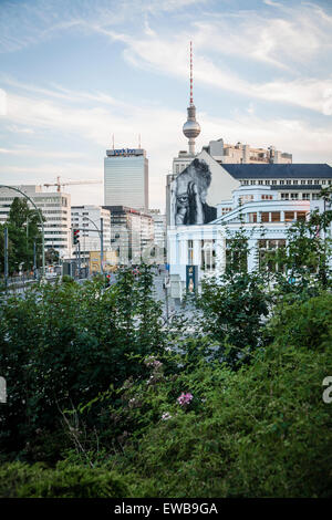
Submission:
[[[210,139],[332,164],[332,1],[0,0],[0,183],[103,180],[105,149],[142,147],[151,208]],[[51,188],[49,188],[51,189]],[[103,204],[103,185],[65,188]]]

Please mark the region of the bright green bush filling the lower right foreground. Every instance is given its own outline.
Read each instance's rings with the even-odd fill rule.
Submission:
[[[139,412],[153,420],[118,461],[138,474],[134,495],[331,497],[332,405],[322,399],[332,374],[330,313],[330,294],[284,309],[274,342],[238,372],[201,360],[153,391],[145,382],[132,389],[141,402],[145,394],[137,425]],[[293,320],[304,325],[309,316],[321,323],[315,343],[291,335]],[[180,388],[194,396],[187,407],[176,401]]]

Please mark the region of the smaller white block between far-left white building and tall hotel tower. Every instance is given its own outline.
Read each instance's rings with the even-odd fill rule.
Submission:
[[[80,247],[82,258],[90,251],[101,250],[101,229],[103,219],[103,248],[111,251],[111,212],[101,206],[72,206],[71,221],[73,229],[80,229]]]

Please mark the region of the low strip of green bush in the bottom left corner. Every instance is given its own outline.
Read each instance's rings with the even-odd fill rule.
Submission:
[[[105,469],[63,462],[55,469],[22,462],[0,467],[0,498],[122,498],[127,495],[124,479]]]

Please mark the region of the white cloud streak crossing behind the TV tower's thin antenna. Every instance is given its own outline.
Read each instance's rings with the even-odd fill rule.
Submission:
[[[137,39],[101,28],[98,31],[126,44],[124,55],[131,64],[183,79],[188,76],[187,35],[181,34],[170,41],[153,34]],[[199,24],[199,33],[201,32],[212,34],[212,30],[209,31],[208,28],[203,30]],[[215,39],[212,41],[216,43]],[[243,96],[293,104],[330,115],[330,111],[326,110],[326,106],[330,106],[326,96],[332,87],[332,75],[324,79],[276,79],[255,83],[226,67],[217,66],[211,59],[200,52],[204,46],[201,39],[198,38],[198,51],[195,52],[195,83],[208,84],[214,89],[224,89]]]

